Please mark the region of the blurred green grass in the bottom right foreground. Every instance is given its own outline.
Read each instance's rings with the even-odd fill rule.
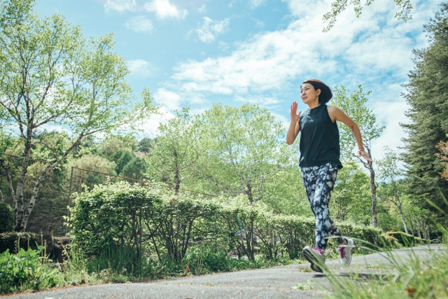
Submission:
[[[328,270],[332,286],[329,298],[354,299],[402,299],[402,298],[448,298],[448,246],[437,253],[428,249],[432,256],[422,261],[414,251],[409,260],[398,260],[390,251],[385,251],[391,267],[380,268],[378,275],[363,277],[355,268],[352,277],[342,277]]]

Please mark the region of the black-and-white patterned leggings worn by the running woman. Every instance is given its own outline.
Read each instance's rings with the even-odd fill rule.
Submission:
[[[322,166],[302,167],[301,171],[309,205],[316,218],[316,248],[325,250],[329,236],[339,236],[336,241],[341,244],[344,238],[330,219],[328,209],[337,176],[336,165],[327,163]]]

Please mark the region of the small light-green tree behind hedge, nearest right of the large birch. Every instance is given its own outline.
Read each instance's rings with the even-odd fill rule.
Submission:
[[[190,116],[189,108],[176,111],[176,117],[160,123],[160,136],[153,142],[148,162],[153,169],[150,176],[167,176],[174,181],[174,192],[179,194],[184,172],[195,165],[202,155],[201,121]]]

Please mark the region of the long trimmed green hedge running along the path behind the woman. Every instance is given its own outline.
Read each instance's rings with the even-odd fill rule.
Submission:
[[[254,260],[255,253],[301,257],[303,246],[314,243],[315,220],[273,214],[261,202],[248,204],[243,196],[231,202],[228,197],[174,196],[118,182],[80,193],[71,209],[71,225],[73,243],[87,256],[99,256],[104,248],[125,248],[136,256],[182,260],[194,244],[209,242],[225,254]],[[380,244],[379,229],[353,223],[338,227],[344,236],[371,243],[358,246]]]

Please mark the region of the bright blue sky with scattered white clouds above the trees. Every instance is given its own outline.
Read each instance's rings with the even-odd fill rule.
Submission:
[[[413,49],[428,46],[423,25],[440,1],[412,1],[412,20],[394,17],[392,0],[374,0],[356,18],[349,6],[330,32],[322,17],[332,0],[36,0],[41,17],[62,13],[85,36],[115,34],[114,51],[127,60],[136,95],[149,88],[162,116],[139,137],[155,137],[160,121],[213,103],[259,104],[288,127],[300,83],[317,78],[330,87],[371,90],[367,106],[386,129],[372,142],[403,146],[409,109],[402,93],[414,68]]]

